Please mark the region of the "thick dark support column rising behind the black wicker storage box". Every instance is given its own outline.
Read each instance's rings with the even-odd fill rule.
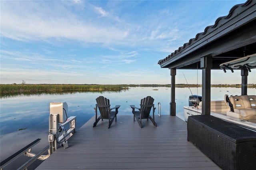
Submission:
[[[210,115],[212,57],[202,57],[202,115]]]

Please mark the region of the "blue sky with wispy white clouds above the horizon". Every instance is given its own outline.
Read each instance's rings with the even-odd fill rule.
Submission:
[[[246,0],[0,1],[1,84],[170,84],[164,59]],[[211,84],[240,84],[212,70]],[[176,84],[201,84],[177,70]],[[256,84],[256,69],[248,83]]]

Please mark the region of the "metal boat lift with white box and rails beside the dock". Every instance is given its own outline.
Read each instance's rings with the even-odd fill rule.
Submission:
[[[12,154],[5,160],[0,162],[0,168],[3,170],[4,166],[15,160],[18,156],[24,153],[25,156],[32,157],[24,163],[18,170],[26,170],[36,159],[45,160],[60,146],[68,148],[68,139],[76,132],[76,117],[68,117],[68,105],[66,102],[51,102],[50,103],[50,116],[49,116],[49,146],[46,146],[38,154],[31,152],[32,146],[38,144],[41,139],[36,139],[34,142],[28,144],[18,152]],[[66,120],[64,121],[64,119]],[[68,128],[68,130],[66,130]],[[42,153],[48,150],[47,155]]]

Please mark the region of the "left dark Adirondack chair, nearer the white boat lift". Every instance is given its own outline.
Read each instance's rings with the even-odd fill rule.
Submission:
[[[108,128],[110,128],[112,122],[114,121],[114,119],[116,118],[116,115],[118,113],[118,108],[120,107],[120,105],[116,105],[113,108],[110,108],[110,102],[109,99],[100,96],[96,99],[96,107],[94,107],[95,109],[95,122],[93,124],[93,127],[96,127],[98,121],[100,121],[100,119],[108,119]],[[98,108],[98,109],[97,109]],[[115,111],[111,111],[112,109],[115,109]],[[97,110],[100,111],[100,116],[97,119]]]

